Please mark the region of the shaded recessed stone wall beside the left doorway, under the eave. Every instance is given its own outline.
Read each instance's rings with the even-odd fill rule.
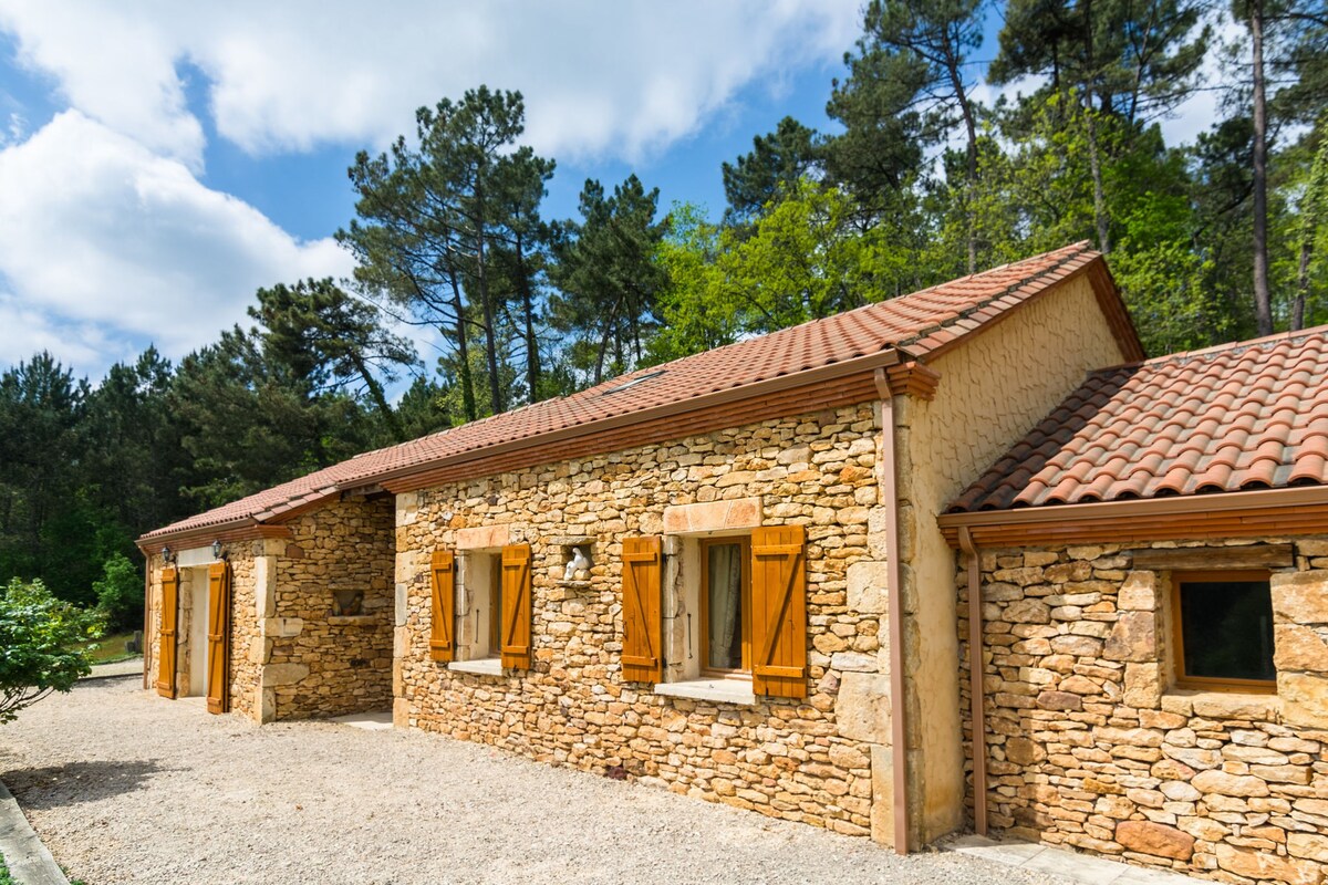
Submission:
[[[274,616],[264,624],[267,718],[336,716],[392,709],[390,496],[344,500],[291,521],[272,559]],[[336,594],[363,593],[360,609],[336,614]]]

